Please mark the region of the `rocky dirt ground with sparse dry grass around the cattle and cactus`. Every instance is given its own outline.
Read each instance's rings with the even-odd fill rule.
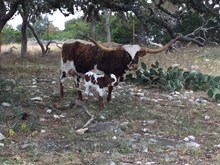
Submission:
[[[219,75],[220,54],[209,56],[213,49],[141,60]],[[77,100],[71,79],[59,97],[60,53],[30,54],[1,55],[0,78],[7,83],[0,94],[0,164],[220,164],[220,104],[206,92],[168,93],[121,82],[102,111],[97,94],[90,96],[87,109],[95,119],[78,134],[90,116],[83,103],[68,107]]]

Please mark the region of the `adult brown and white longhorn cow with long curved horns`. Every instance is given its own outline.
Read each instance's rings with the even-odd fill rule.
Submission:
[[[106,75],[114,74],[119,79],[127,70],[135,70],[138,68],[139,57],[143,57],[147,53],[155,54],[167,50],[174,42],[174,40],[172,40],[170,43],[157,49],[131,44],[107,48],[92,38],[88,39],[95,45],[84,44],[79,41],[63,44],[60,76],[61,97],[64,94],[63,81],[67,76],[73,76],[77,79],[75,84],[78,88],[79,98],[82,99],[79,80],[86,72],[96,70],[97,73]],[[113,87],[109,86],[108,101],[111,100],[112,90]]]

